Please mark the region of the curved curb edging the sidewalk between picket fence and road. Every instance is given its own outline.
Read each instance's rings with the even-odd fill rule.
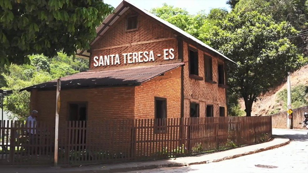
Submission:
[[[284,136],[278,136],[278,135],[273,135],[273,138],[284,138],[284,139],[288,139]],[[285,146],[287,144],[290,143],[290,139],[288,139],[288,141],[274,145],[274,146],[269,146],[269,147],[265,147],[265,148],[260,148],[254,151],[249,151],[249,152],[245,152],[245,153],[241,153],[241,154],[236,154],[233,156],[227,156],[227,157],[223,157],[220,159],[214,159],[214,160],[208,160],[208,161],[200,161],[200,162],[192,162],[192,163],[169,163],[169,164],[163,164],[163,165],[147,165],[147,166],[136,166],[136,167],[130,167],[130,168],[115,168],[115,169],[103,169],[100,171],[95,171],[95,172],[108,172],[108,173],[115,173],[115,172],[127,172],[127,171],[138,171],[138,170],[146,170],[146,169],[157,169],[157,168],[164,168],[164,167],[182,167],[182,166],[189,166],[189,165],[199,165],[199,164],[206,164],[206,163],[211,163],[211,162],[219,162],[219,161],[224,161],[224,160],[228,160],[228,159],[234,159],[240,156],[246,156],[246,155],[250,155],[250,154],[255,154],[258,152],[262,152],[262,151],[267,151],[267,150],[272,150],[275,148],[279,148],[281,146]]]

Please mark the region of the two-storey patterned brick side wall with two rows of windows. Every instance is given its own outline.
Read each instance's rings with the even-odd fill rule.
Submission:
[[[193,47],[192,45],[189,45]],[[196,48],[196,47],[193,47]],[[196,48],[197,49],[197,48]],[[204,76],[204,58],[203,55],[207,54],[212,57],[213,67],[213,81],[218,83],[218,62],[223,63],[217,57],[198,50],[198,66],[199,76],[203,80],[196,80],[189,77],[189,63],[188,63],[188,44],[183,43],[183,61],[187,62],[184,66],[184,117],[189,117],[190,102],[197,102],[200,106],[200,117],[205,116],[206,105],[214,106],[214,116],[219,116],[219,106],[225,107],[225,115],[227,112],[225,89],[218,87],[218,84],[205,82]]]

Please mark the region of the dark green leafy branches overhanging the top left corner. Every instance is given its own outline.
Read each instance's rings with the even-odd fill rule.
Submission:
[[[114,9],[102,0],[0,0],[0,7],[0,67],[29,63],[32,54],[88,49]]]

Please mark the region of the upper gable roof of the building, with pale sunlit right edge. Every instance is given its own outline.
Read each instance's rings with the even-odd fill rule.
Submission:
[[[126,5],[126,4],[128,4],[128,5]],[[163,25],[171,28],[173,31],[177,32],[181,36],[183,36],[183,37],[185,37],[185,38],[195,42],[199,46],[207,48],[207,49],[217,53],[221,57],[225,58],[226,60],[236,64],[236,62],[232,61],[228,57],[224,56],[222,53],[218,52],[217,50],[213,49],[212,47],[208,46],[207,44],[201,42],[200,40],[198,40],[197,38],[195,38],[192,35],[188,34],[187,32],[183,31],[182,29],[172,25],[171,23],[169,23],[169,22],[167,22],[167,21],[165,21],[165,20],[155,16],[154,14],[146,11],[145,9],[142,9],[142,8],[136,6],[135,4],[133,4],[133,3],[129,2],[129,1],[127,1],[127,0],[123,0],[115,8],[115,11],[112,14],[110,14],[108,17],[105,18],[105,20],[100,25],[100,27],[96,28],[96,32],[97,32],[98,36],[95,38],[95,40],[93,42],[91,42],[90,45],[93,45],[97,40],[99,40],[99,38],[103,36],[103,34],[116,22],[116,20],[118,20],[121,17],[121,15],[123,15],[130,8],[130,6],[137,8],[141,12],[145,13],[147,16],[152,17],[156,21],[158,21],[158,22],[162,23]],[[83,58],[90,57],[90,53],[87,52],[87,50],[78,50],[76,52],[76,56],[77,57],[83,57]]]

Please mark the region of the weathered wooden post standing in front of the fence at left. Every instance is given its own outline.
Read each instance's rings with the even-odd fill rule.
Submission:
[[[57,94],[56,94],[56,121],[54,128],[54,166],[58,166],[58,134],[59,134],[59,111],[60,111],[60,90],[61,79],[57,81]]]

